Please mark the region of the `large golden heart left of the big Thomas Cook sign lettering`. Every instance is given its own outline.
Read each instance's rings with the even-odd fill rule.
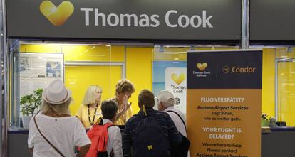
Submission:
[[[51,1],[43,1],[40,11],[54,26],[62,26],[73,14],[74,6],[70,1],[63,1],[57,7]]]

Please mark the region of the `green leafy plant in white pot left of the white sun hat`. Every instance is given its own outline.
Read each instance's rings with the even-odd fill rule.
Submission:
[[[39,109],[42,103],[42,88],[33,91],[33,94],[21,97],[21,113],[23,116],[33,116],[35,110]]]

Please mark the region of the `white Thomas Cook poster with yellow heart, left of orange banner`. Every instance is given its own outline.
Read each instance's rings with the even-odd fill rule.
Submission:
[[[187,112],[187,68],[168,67],[165,70],[165,90],[175,97],[175,109]]]

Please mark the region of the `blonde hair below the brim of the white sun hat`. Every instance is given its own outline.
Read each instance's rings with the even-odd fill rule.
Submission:
[[[68,106],[70,106],[71,102],[72,98],[68,99],[66,102],[63,102],[61,104],[51,104],[43,99],[42,104],[40,106],[40,111],[42,113],[53,112],[56,114],[70,114]]]

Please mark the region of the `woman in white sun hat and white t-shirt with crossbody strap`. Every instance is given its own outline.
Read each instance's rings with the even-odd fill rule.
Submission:
[[[81,147],[79,157],[85,156],[90,140],[81,122],[71,117],[71,91],[61,80],[53,80],[42,94],[41,113],[29,124],[28,146],[33,157],[75,156],[75,147]]]

